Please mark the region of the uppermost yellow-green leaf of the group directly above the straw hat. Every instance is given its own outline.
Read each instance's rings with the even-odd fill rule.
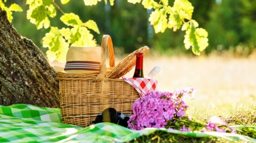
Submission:
[[[81,25],[82,21],[80,20],[78,15],[75,15],[73,13],[65,14],[60,17],[60,20],[63,21],[64,24],[68,26],[74,27],[75,25]]]

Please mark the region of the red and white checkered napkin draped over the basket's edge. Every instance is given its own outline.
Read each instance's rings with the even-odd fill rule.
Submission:
[[[123,76],[122,80],[133,86],[139,93],[140,97],[143,97],[146,92],[158,91],[158,80],[156,79],[128,78]]]

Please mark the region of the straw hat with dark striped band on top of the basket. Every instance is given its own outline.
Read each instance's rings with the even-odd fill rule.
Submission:
[[[99,73],[101,47],[76,47],[68,49],[65,67],[53,66],[57,72]]]

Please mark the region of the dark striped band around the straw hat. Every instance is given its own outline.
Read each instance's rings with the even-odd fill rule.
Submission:
[[[64,68],[64,71],[68,70],[100,71],[100,62],[69,61]]]

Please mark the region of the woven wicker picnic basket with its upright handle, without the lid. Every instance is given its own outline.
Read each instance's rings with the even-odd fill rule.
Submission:
[[[123,114],[132,114],[132,106],[135,99],[139,98],[139,93],[122,79],[106,77],[107,45],[110,67],[114,67],[112,41],[109,36],[104,36],[101,45],[100,73],[57,73],[63,123],[87,127],[108,107],[113,107]]]

